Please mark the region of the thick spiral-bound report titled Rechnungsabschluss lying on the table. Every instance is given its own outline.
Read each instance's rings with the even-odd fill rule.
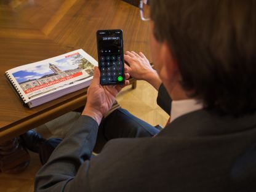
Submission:
[[[97,61],[78,49],[6,71],[6,79],[30,108],[89,86]]]

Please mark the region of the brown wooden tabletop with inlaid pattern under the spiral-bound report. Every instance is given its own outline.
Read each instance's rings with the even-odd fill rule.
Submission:
[[[148,22],[121,0],[19,0],[0,2],[0,142],[75,110],[86,89],[35,108],[20,103],[4,73],[16,66],[84,49],[97,58],[95,33],[122,29],[124,50],[150,55]],[[149,57],[151,60],[151,58]]]

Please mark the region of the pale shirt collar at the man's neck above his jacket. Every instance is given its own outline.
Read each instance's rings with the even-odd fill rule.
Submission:
[[[177,119],[183,114],[201,110],[203,108],[202,103],[196,99],[172,101],[171,106],[172,108],[170,110],[170,122],[174,121],[174,119]]]

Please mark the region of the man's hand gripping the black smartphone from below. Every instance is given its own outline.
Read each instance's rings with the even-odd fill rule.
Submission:
[[[127,71],[127,68],[125,68]],[[129,74],[125,73],[126,79],[129,78]],[[124,86],[127,86],[129,81],[125,81]],[[116,95],[120,92],[124,86],[102,86],[100,85],[100,70],[98,67],[94,68],[94,79],[87,90],[87,103],[82,115],[87,115],[95,119],[100,124],[102,117],[112,107]]]

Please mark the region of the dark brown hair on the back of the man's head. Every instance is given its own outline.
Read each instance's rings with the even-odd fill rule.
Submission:
[[[182,86],[208,109],[256,111],[256,1],[151,0],[154,36],[169,45]]]

